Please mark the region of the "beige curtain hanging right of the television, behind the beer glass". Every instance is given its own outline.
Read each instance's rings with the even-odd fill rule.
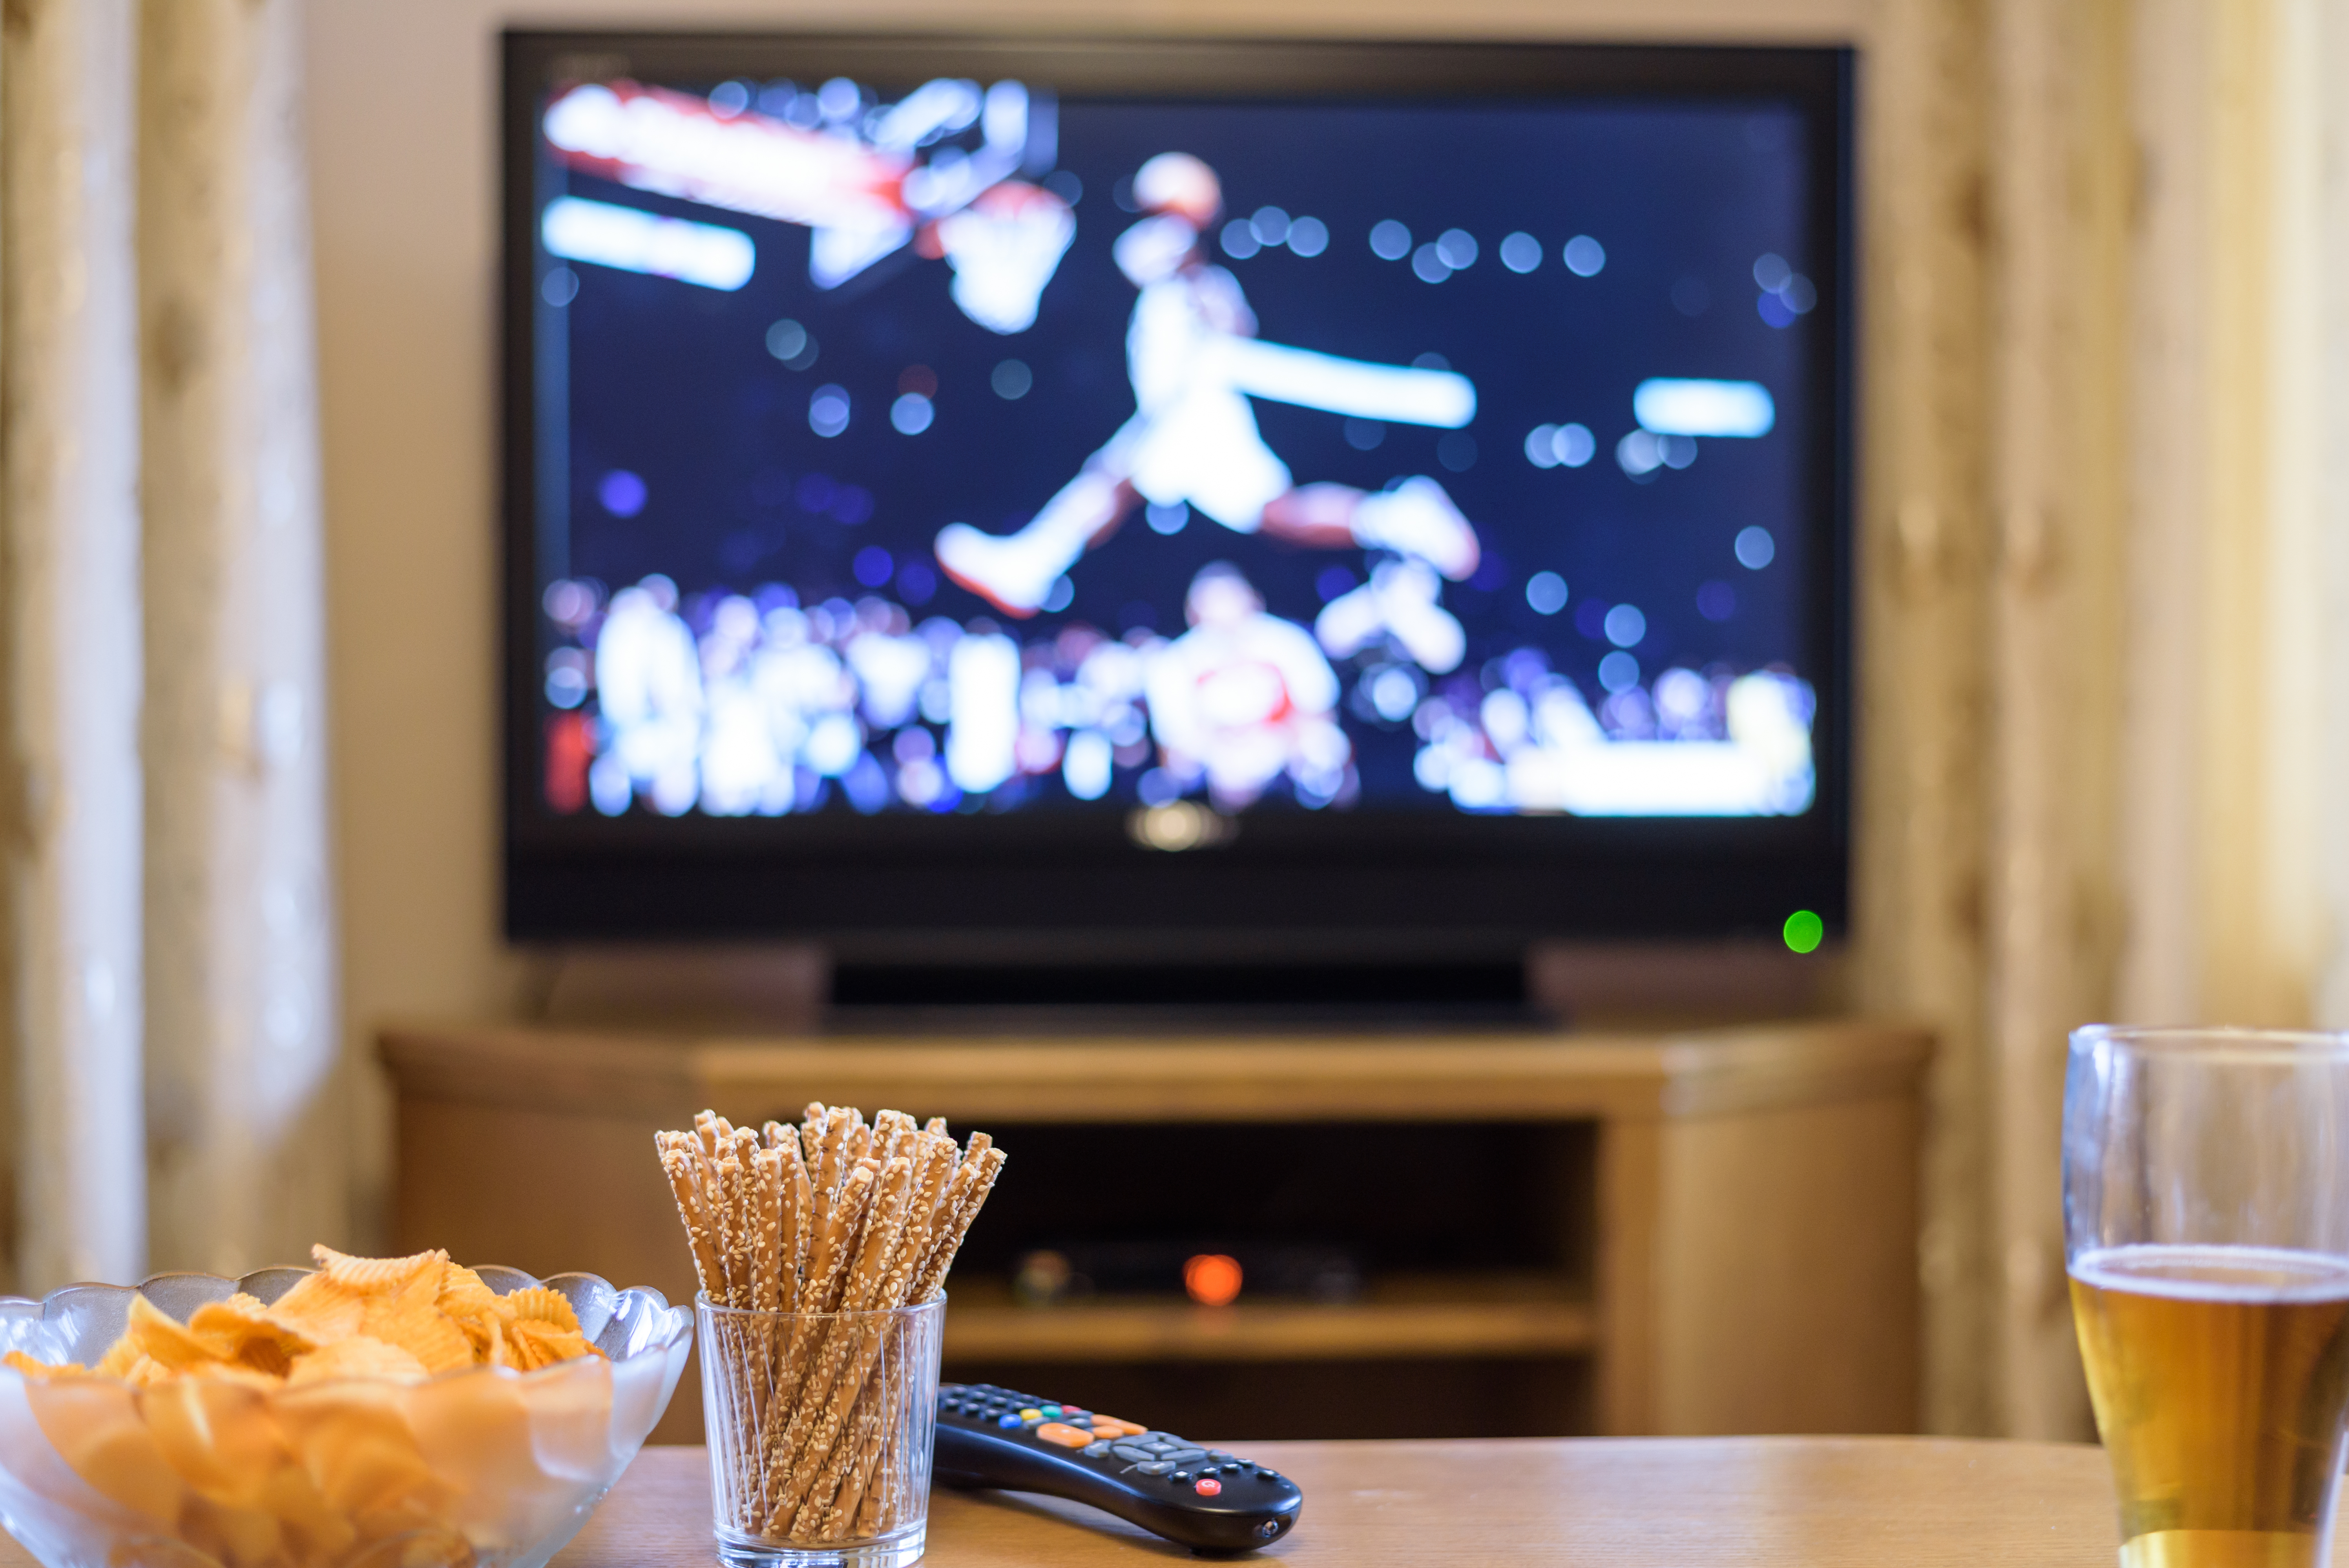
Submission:
[[[1886,0],[1863,1007],[1931,1019],[1926,1420],[2086,1437],[2065,1033],[2349,1023],[2349,2]]]

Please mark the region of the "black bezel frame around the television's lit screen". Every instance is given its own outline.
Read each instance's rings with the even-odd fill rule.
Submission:
[[[1066,96],[1771,99],[1811,127],[1809,254],[1828,350],[1809,453],[1818,793],[1799,817],[1247,812],[1219,847],[1137,847],[1123,807],[566,819],[540,791],[536,136],[597,75],[1050,82]],[[1853,77],[1844,47],[507,31],[503,35],[503,922],[514,941],[822,939],[893,958],[1461,960],[1539,939],[1773,934],[1849,913],[1853,707]],[[1398,831],[1400,829],[1400,831]]]

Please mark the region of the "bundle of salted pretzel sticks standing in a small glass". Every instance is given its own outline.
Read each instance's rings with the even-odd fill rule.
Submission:
[[[796,1314],[719,1314],[702,1343],[721,1514],[768,1540],[890,1533],[918,1502],[902,1441],[921,1415],[902,1397],[911,1347],[902,1319],[839,1314],[937,1300],[1003,1150],[984,1131],[956,1148],[944,1117],[867,1124],[820,1101],[799,1127],[759,1131],[702,1110],[655,1143],[709,1303]]]

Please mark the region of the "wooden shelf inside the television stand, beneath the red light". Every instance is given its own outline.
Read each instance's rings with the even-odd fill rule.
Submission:
[[[1597,1345],[1590,1303],[1548,1279],[1379,1282],[1348,1303],[1109,1298],[1017,1305],[1001,1282],[956,1282],[954,1361],[1322,1361],[1569,1357]]]

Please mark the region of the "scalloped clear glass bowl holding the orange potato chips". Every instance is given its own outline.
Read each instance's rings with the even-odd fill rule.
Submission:
[[[561,1291],[604,1354],[277,1390],[0,1366],[0,1523],[45,1568],[543,1568],[667,1408],[693,1312],[594,1275],[477,1272],[500,1296]],[[0,1298],[0,1352],[92,1366],[132,1296],[188,1322],[235,1291],[277,1300],[305,1275],[155,1275],[136,1291]]]

